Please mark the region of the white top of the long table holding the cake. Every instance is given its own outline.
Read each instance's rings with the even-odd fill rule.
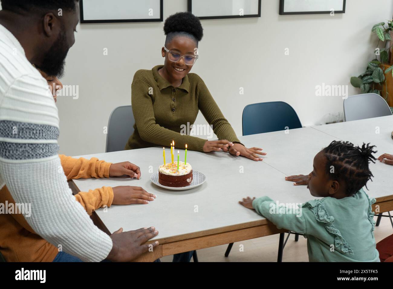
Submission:
[[[140,166],[140,180],[109,178],[79,179],[74,182],[81,191],[102,186],[128,185],[141,186],[149,193],[157,195],[154,201],[146,205],[111,206],[107,212],[103,209],[97,210],[97,215],[110,232],[120,227],[124,230],[135,230],[145,226],[155,226],[159,231],[155,239],[162,239],[248,223],[260,220],[262,217],[238,204],[242,197],[268,195],[284,203],[303,203],[314,199],[305,186],[293,186],[292,182],[285,181],[284,178],[286,175],[308,174],[312,170],[312,160],[316,153],[329,145],[332,140],[338,140],[340,136],[348,136],[349,140],[360,141],[361,136],[365,134],[367,137],[370,136],[370,140],[364,141],[381,146],[383,144],[384,148],[388,149],[388,142],[382,137],[382,128],[384,131],[388,130],[393,117],[385,118],[381,118],[380,121],[376,119],[359,121],[362,126],[367,123],[375,126],[375,121],[380,123],[379,135],[365,134],[364,130],[357,130],[356,122],[347,122],[315,127],[320,131],[307,127],[290,130],[289,134],[280,131],[241,137],[241,141],[247,147],[264,148],[268,155],[263,162],[230,156],[227,153],[188,151],[187,162],[193,166],[193,169],[206,175],[206,182],[191,190],[171,191],[152,184],[150,176],[163,162],[162,147],[83,156],[97,157],[113,163],[128,160]],[[347,133],[345,133],[346,127],[349,130]],[[393,125],[390,132],[392,130]],[[170,149],[166,149],[166,152],[168,160]],[[386,152],[393,153],[393,140],[391,140],[391,148]],[[180,150],[180,156],[184,157],[184,150]],[[241,166],[244,173],[240,173]],[[371,166],[371,170],[375,180],[369,182],[370,197],[391,195],[393,166],[378,162]],[[198,206],[198,212],[194,212],[195,206]]]

